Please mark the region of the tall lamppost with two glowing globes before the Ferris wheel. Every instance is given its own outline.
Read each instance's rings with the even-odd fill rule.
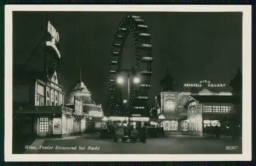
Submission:
[[[120,70],[120,71],[124,71],[127,73],[127,100],[124,100],[123,103],[127,103],[127,113],[128,113],[128,124],[130,126],[130,72],[132,72],[132,70],[127,70],[127,69],[123,69],[123,70]],[[123,78],[120,76],[117,78],[117,82],[118,84],[123,84],[124,80]],[[140,79],[139,77],[137,76],[134,76],[133,77],[133,82],[134,84],[138,84],[140,82]]]

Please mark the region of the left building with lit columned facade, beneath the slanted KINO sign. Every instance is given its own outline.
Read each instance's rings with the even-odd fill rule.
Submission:
[[[74,109],[64,106],[65,93],[57,70],[16,74],[14,84],[14,134],[38,137],[65,136],[79,133],[80,122]]]

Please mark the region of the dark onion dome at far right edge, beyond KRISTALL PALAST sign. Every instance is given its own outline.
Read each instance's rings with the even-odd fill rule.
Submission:
[[[233,95],[242,95],[242,80],[241,70],[238,68],[236,76],[229,83],[230,87],[232,87]]]

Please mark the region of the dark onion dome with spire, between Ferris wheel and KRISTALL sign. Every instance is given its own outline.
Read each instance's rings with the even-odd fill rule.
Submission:
[[[172,75],[170,75],[169,64],[167,67],[166,75],[160,82],[160,86],[162,87],[163,92],[174,91],[176,80],[172,77]]]

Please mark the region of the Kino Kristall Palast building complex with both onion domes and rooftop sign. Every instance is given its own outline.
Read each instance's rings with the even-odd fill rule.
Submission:
[[[231,135],[238,130],[241,135],[241,85],[242,76],[238,69],[237,75],[230,81],[232,93],[211,92],[209,89],[220,90],[225,84],[212,84],[209,80],[202,80],[200,84],[185,84],[196,86],[191,92],[174,92],[174,79],[167,70],[161,81],[163,92],[156,96],[158,126],[164,131],[186,131],[199,136],[215,134],[216,127],[220,127],[221,134]]]

